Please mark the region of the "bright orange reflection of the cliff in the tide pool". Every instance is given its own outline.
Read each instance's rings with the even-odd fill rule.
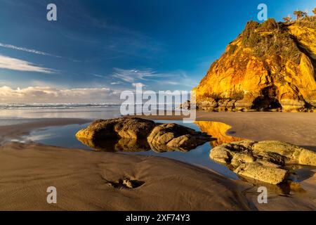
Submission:
[[[201,129],[202,132],[205,132],[216,139],[215,141],[210,142],[212,148],[220,146],[223,143],[245,140],[235,136],[227,135],[226,132],[231,127],[228,124],[224,124],[222,122],[196,121],[195,124],[199,126],[199,129]]]

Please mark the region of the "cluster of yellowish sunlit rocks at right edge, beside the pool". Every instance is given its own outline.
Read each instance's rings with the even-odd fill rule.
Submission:
[[[237,141],[213,148],[210,158],[228,165],[236,174],[270,184],[289,177],[284,165],[316,166],[316,153],[282,141]]]

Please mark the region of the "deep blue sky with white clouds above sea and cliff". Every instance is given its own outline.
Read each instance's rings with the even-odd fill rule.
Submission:
[[[48,21],[48,4],[57,21]],[[0,104],[113,102],[124,90],[191,90],[258,20],[315,0],[0,0]]]

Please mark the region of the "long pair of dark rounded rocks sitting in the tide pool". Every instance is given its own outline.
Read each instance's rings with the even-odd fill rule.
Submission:
[[[97,120],[76,136],[93,149],[107,151],[188,151],[211,141],[208,134],[178,124],[129,117]]]

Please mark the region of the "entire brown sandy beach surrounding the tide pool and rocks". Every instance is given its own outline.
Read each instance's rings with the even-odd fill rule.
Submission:
[[[228,124],[228,136],[288,141],[315,149],[315,113],[205,113],[197,120]],[[180,120],[180,117],[146,117]],[[8,141],[32,130],[91,119],[46,118],[0,126],[1,210],[315,210],[315,169],[294,195],[269,186],[268,203],[258,204],[257,186],[211,169],[151,155],[125,155]],[[115,188],[129,178],[142,185]],[[260,184],[258,184],[260,185]],[[46,202],[55,186],[58,204]]]

